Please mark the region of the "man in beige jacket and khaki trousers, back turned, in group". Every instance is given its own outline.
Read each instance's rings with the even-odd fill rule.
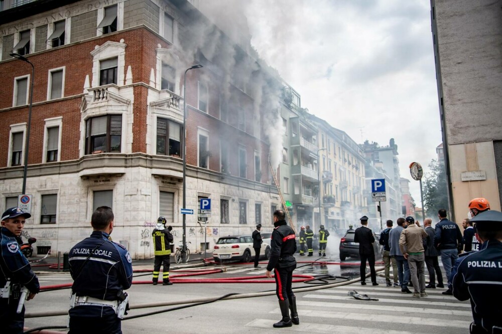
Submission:
[[[410,266],[410,276],[413,283],[415,298],[427,297],[425,292],[425,255],[423,240],[427,238],[427,232],[415,225],[413,217],[406,217],[408,227],[401,232],[399,248]],[[418,276],[417,276],[418,270]]]

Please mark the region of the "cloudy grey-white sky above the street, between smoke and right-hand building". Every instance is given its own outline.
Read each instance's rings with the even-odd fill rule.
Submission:
[[[398,145],[401,177],[419,182],[441,143],[429,0],[246,0],[252,44],[302,107],[364,140]]]

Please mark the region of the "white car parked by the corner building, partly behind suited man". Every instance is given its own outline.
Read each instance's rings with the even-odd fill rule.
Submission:
[[[263,257],[270,258],[270,242],[265,240],[260,252],[260,258]],[[213,259],[218,263],[230,260],[249,263],[254,258],[253,237],[250,235],[220,237],[213,247]]]

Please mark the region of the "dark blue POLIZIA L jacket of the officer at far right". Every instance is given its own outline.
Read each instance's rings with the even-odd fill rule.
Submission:
[[[502,327],[502,304],[494,300],[502,295],[502,242],[486,241],[481,250],[466,253],[456,265],[452,271],[455,298],[470,298],[474,323],[487,332]]]

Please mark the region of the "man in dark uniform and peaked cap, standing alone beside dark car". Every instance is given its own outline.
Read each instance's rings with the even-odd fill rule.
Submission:
[[[378,283],[376,283],[375,253],[373,249],[375,237],[373,236],[373,232],[367,227],[368,217],[362,216],[360,221],[362,226],[355,230],[354,242],[359,243],[361,285],[366,285],[366,260],[368,261],[369,270],[371,272],[371,282],[373,285],[378,285]]]

